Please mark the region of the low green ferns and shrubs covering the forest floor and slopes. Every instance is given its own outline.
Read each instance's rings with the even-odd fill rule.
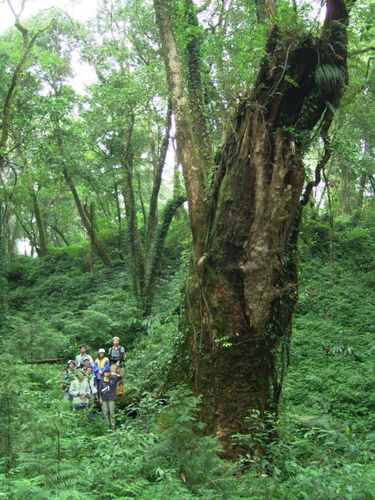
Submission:
[[[373,499],[375,213],[335,221],[307,213],[300,299],[280,421],[248,418],[239,460],[199,420],[200,400],[171,387],[184,254],[164,269],[143,319],[126,268],[85,270],[68,252],[16,258],[0,388],[0,497]],[[333,243],[333,253],[330,252]],[[77,266],[81,262],[82,265]],[[156,312],[157,311],[157,312]],[[57,365],[25,360],[128,349],[116,431],[62,401]]]

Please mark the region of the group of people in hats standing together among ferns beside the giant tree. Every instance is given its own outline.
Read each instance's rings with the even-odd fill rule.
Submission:
[[[112,342],[108,355],[101,348],[95,361],[87,347],[81,345],[76,359],[70,359],[61,372],[61,388],[63,399],[72,401],[74,410],[88,410],[93,415],[96,401],[99,401],[108,427],[114,429],[115,401],[117,396],[124,394],[126,353],[119,337],[113,337]]]

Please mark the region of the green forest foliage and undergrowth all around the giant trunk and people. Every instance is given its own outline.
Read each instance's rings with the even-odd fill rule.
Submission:
[[[257,22],[262,2],[198,3],[170,8],[178,50],[193,47],[199,60],[204,92],[188,94],[204,102],[215,150],[256,77],[269,25]],[[305,157],[307,180],[320,165],[321,182],[303,209],[280,412],[250,412],[230,438],[232,460],[176,371],[191,369],[181,318],[192,241],[152,3],[103,1],[86,24],[58,9],[24,20],[8,4],[16,27],[0,36],[0,498],[373,499],[374,3],[352,9],[350,83],[329,140],[314,129]],[[285,39],[321,30],[315,2],[280,1],[278,19]],[[96,75],[84,90],[77,60]],[[314,78],[342,81],[329,65]],[[128,360],[108,431],[100,412],[89,418],[62,400],[59,372],[81,343],[94,353],[115,335]],[[218,342],[231,349],[227,337]],[[33,364],[43,359],[56,362]]]

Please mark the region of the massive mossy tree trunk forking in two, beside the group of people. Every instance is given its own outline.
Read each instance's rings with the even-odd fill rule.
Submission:
[[[347,83],[349,5],[328,0],[313,35],[297,14],[295,26],[279,22],[276,1],[257,2],[269,26],[265,55],[214,161],[199,38],[183,54],[168,1],[154,7],[193,237],[184,348],[208,430],[226,440],[251,410],[277,412],[297,300],[303,157],[313,133],[329,157],[328,129]],[[197,25],[191,0],[184,7],[187,26]]]

